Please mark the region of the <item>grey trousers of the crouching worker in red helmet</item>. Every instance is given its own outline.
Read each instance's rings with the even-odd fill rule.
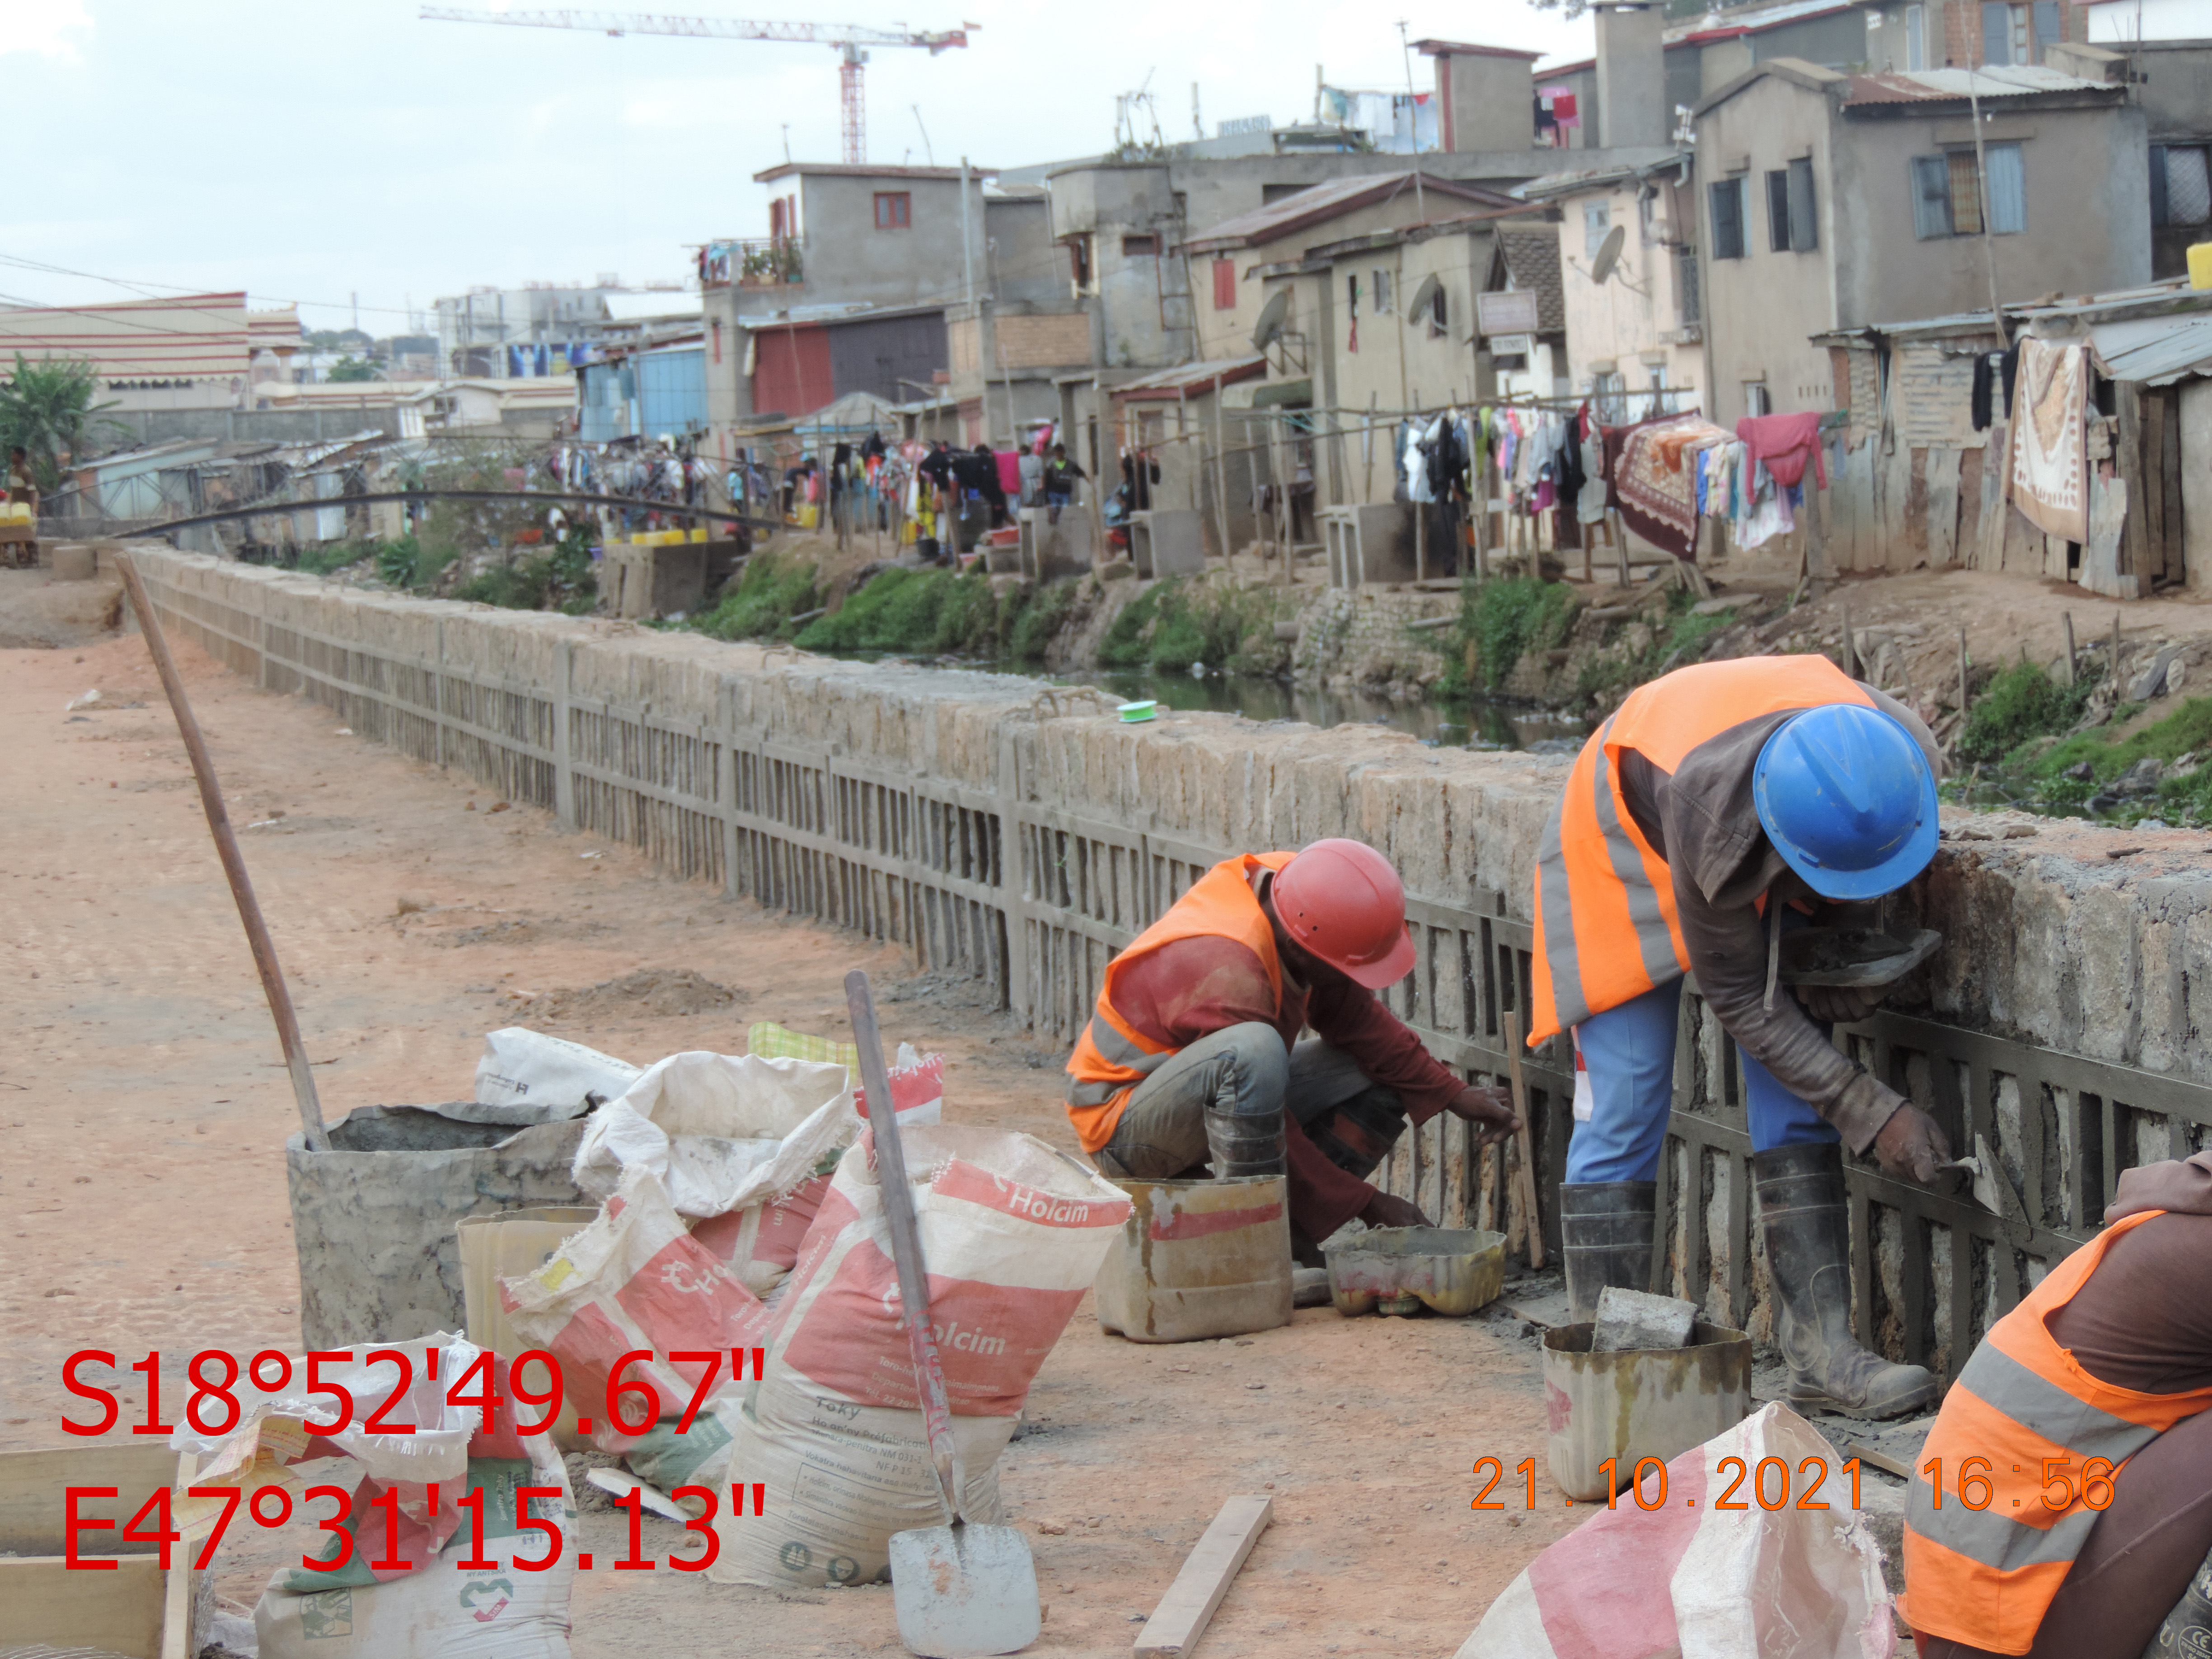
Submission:
[[[1208,1108],[1290,1113],[1332,1164],[1360,1177],[1405,1130],[1398,1093],[1369,1082],[1343,1048],[1316,1037],[1285,1053],[1283,1033],[1252,1020],[1199,1037],[1137,1084],[1113,1139],[1095,1152],[1099,1170],[1126,1181],[1199,1172]],[[1352,1139],[1338,1137],[1325,1117],[1349,1119]]]

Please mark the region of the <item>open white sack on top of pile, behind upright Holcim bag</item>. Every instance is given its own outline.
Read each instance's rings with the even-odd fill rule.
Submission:
[[[679,1214],[706,1219],[794,1192],[858,1128],[843,1066],[690,1051],[593,1115],[573,1175],[604,1199],[646,1168]]]

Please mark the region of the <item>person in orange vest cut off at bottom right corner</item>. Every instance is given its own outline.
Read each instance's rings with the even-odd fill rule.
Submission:
[[[2212,1152],[2124,1170],[2104,1219],[1913,1458],[1920,1659],[2212,1652]]]

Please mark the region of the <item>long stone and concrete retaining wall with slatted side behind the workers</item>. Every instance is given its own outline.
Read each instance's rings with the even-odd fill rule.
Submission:
[[[1420,967],[1389,1002],[1447,1064],[1498,1077],[1528,1006],[1531,867],[1559,759],[1374,726],[1121,726],[1113,699],[1015,677],[363,595],[166,549],[139,560],[166,624],[270,690],[677,874],[987,978],[1060,1037],[1088,1018],[1110,953],[1212,860],[1334,834],[1405,874]],[[1955,1141],[1984,1135],[2024,1201],[2006,1221],[1851,1170],[1863,1336],[1951,1369],[2086,1237],[2121,1168],[2197,1150],[2212,1124],[2212,1055],[2192,1042],[2212,995],[2212,878],[2194,869],[2201,836],[1947,823],[1893,918],[1944,929],[1947,949],[1900,1011],[1845,1042]],[[2157,841],[2188,845],[2108,856]],[[1741,1086],[1701,1002],[1683,1009],[1666,1279],[1763,1332]],[[1568,1068],[1564,1042],[1526,1066],[1546,1194],[1573,1128]],[[1500,1155],[1471,1155],[1458,1121],[1409,1135],[1385,1179],[1526,1243]],[[1555,1252],[1548,1197],[1544,1225]]]

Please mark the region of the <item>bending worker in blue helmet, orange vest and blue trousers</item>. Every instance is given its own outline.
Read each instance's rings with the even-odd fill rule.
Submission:
[[[1874,900],[1936,856],[1936,741],[1827,657],[1697,664],[1639,686],[1590,737],[1537,854],[1531,1046],[1575,1031],[1559,1188],[1573,1316],[1650,1290],[1683,975],[1743,1060],[1776,1340],[1801,1409],[1927,1407],[1933,1378],[1851,1334],[1843,1148],[1933,1183],[1951,1148],[1840,1053],[1882,989],[1778,984],[1781,933]],[[1586,1079],[1586,1088],[1582,1086]]]

